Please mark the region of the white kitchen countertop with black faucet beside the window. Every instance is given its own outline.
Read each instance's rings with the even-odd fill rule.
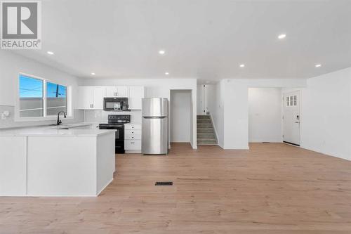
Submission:
[[[88,126],[91,123],[65,124],[60,126],[37,126],[31,128],[7,129],[0,131],[0,136],[98,136],[114,133],[107,129],[62,129]]]

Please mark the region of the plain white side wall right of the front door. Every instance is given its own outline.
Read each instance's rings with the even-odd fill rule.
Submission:
[[[307,79],[301,147],[351,160],[351,67]]]

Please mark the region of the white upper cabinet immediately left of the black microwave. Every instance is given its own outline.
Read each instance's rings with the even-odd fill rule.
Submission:
[[[102,110],[106,89],[103,86],[79,86],[78,109]]]

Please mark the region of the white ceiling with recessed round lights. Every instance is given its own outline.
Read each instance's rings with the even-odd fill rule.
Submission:
[[[42,14],[42,50],[16,53],[78,77],[305,78],[351,66],[351,1],[47,0]]]

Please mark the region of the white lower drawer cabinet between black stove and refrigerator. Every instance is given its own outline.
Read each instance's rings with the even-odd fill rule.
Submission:
[[[124,150],[126,153],[141,152],[141,124],[124,124]]]

